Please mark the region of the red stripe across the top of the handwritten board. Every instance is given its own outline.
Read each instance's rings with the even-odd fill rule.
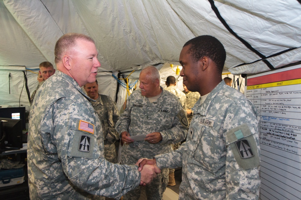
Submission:
[[[301,68],[247,79],[247,86],[301,78]]]

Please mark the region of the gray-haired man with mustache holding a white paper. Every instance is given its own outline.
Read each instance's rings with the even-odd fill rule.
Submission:
[[[154,66],[140,72],[140,90],[135,90],[125,103],[124,112],[116,123],[123,145],[121,163],[135,164],[139,158],[152,158],[172,150],[187,133],[187,116],[178,97],[160,86],[160,73]],[[129,136],[143,135],[142,141]],[[161,200],[168,183],[168,168],[161,169],[154,181],[146,186],[147,199]],[[127,193],[125,200],[137,200],[140,188]]]

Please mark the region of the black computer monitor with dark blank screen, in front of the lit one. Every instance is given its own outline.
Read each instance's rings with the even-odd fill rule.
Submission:
[[[0,118],[1,151],[22,148],[22,134],[21,119]]]

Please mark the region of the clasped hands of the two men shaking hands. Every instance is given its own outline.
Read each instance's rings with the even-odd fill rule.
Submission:
[[[157,177],[161,170],[157,167],[156,159],[141,158],[135,164],[138,166],[138,171],[141,172],[140,185],[145,186]]]

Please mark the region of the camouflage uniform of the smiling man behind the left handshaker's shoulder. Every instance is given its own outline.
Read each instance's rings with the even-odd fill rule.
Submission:
[[[119,138],[115,124],[119,119],[116,103],[111,97],[98,94],[96,102],[91,102],[103,125],[104,157],[110,163],[117,163],[117,154],[114,143]]]

